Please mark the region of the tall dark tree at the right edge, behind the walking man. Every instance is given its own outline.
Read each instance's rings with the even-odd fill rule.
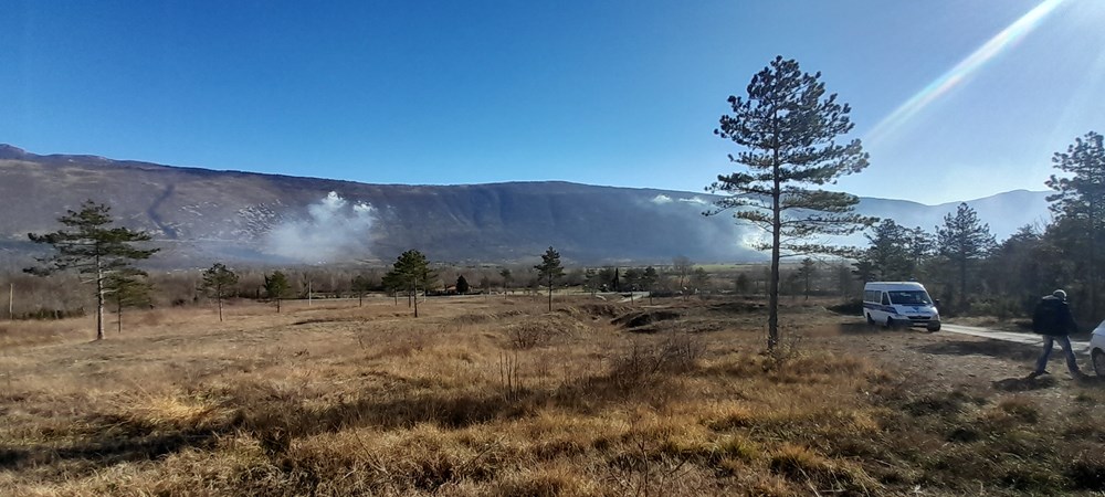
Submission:
[[[1069,248],[1083,248],[1081,253],[1070,254],[1071,258],[1084,266],[1080,272],[1085,286],[1090,290],[1091,316],[1098,317],[1098,288],[1101,277],[1101,239],[1105,225],[1105,142],[1102,135],[1090,131],[1085,137],[1075,138],[1066,152],[1056,152],[1052,165],[1064,176],[1052,175],[1045,182],[1055,191],[1048,197],[1050,209],[1056,214],[1057,221],[1073,224],[1080,229],[1075,243],[1064,244]]]

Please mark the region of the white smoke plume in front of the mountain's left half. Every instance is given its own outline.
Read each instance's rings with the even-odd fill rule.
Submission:
[[[332,191],[307,205],[306,218],[286,220],[270,230],[266,252],[308,264],[365,257],[375,221],[372,205],[350,204]]]

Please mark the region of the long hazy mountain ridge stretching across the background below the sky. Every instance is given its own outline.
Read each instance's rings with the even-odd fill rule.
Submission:
[[[1044,192],[969,201],[999,240],[1046,221]],[[532,261],[548,246],[577,264],[749,262],[761,236],[727,215],[704,218],[708,194],[567,182],[366,184],[177,168],[95,156],[40,156],[0,145],[0,263],[39,250],[29,232],[93,199],[151,232],[168,267],[390,262],[408,248],[431,260]],[[957,203],[862,199],[860,211],[933,231]],[[854,236],[856,243],[865,243]]]

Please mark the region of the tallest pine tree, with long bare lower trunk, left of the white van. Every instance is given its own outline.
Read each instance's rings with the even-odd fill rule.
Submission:
[[[874,222],[856,214],[855,195],[821,190],[838,178],[867,167],[860,140],[838,145],[852,129],[848,104],[825,95],[821,73],[802,73],[798,62],[776,57],[753,76],[748,97],[730,96],[732,115],[723,115],[714,134],[743,147],[729,161],[746,171],[719,175],[707,191],[725,193],[706,215],[734,210],[738,220],[770,233],[768,349],[779,341],[779,258],[791,254],[843,251],[811,243],[814,235],[848,235]]]

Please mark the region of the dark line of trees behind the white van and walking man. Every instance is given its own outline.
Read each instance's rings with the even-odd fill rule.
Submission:
[[[941,310],[1027,315],[1041,295],[1066,290],[1084,325],[1105,311],[1105,146],[1090,131],[1052,158],[1044,181],[1052,214],[1044,225],[1024,225],[998,242],[989,224],[966,203],[933,231],[883,220],[865,236],[856,257],[860,279],[924,282],[943,296]]]

